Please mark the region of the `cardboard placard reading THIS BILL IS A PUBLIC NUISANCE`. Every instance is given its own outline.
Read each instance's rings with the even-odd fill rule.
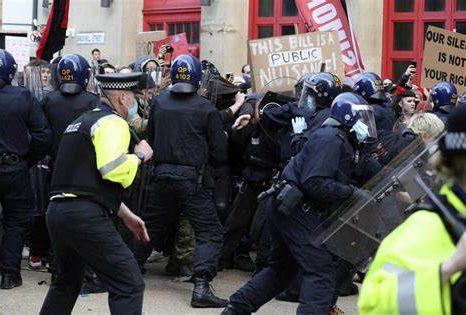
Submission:
[[[265,87],[273,92],[293,91],[304,73],[320,72],[322,63],[325,71],[344,77],[336,31],[250,40],[248,46],[256,92],[265,92]]]

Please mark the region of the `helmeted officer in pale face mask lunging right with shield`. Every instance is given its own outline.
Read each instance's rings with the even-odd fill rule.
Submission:
[[[335,98],[331,117],[285,167],[286,186],[270,200],[269,266],[230,297],[222,314],[251,314],[303,271],[298,314],[328,314],[335,305],[338,260],[312,244],[312,233],[342,201],[359,192],[352,186],[354,147],[368,136],[354,111],[365,101],[354,93]],[[367,104],[367,103],[366,103]]]

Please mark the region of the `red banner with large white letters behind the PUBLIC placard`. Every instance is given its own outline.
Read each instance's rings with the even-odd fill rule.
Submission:
[[[309,31],[337,31],[345,75],[364,72],[359,46],[341,0],[295,0]]]

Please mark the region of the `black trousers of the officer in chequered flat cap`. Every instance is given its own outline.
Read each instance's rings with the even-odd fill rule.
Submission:
[[[71,314],[85,264],[109,292],[111,314],[142,314],[144,280],[105,209],[85,199],[52,201],[46,218],[57,277],[40,314]]]

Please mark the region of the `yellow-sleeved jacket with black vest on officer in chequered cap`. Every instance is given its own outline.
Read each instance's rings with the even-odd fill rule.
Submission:
[[[109,110],[95,109],[72,122],[55,161],[52,199],[84,197],[117,212],[140,163],[128,154],[130,137],[127,122]]]

